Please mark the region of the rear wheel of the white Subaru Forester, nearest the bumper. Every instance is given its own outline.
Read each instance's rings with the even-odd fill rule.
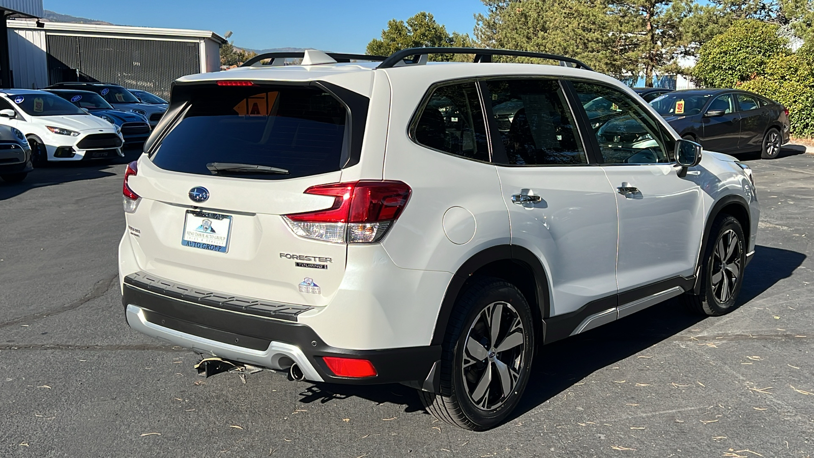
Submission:
[[[458,298],[444,337],[440,394],[419,391],[427,412],[464,429],[499,425],[526,389],[535,350],[523,294],[495,278],[475,278]]]

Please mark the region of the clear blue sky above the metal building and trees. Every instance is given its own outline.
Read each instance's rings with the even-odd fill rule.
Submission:
[[[484,12],[480,0],[45,0],[46,10],[105,20],[113,24],[172,29],[231,30],[236,46],[252,49],[313,47],[336,52],[364,52],[379,38],[387,20],[406,20],[429,11],[448,32],[472,33],[473,15]]]

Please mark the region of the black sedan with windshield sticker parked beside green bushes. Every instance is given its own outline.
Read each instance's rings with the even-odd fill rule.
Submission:
[[[683,138],[710,151],[759,151],[764,159],[774,159],[789,142],[789,110],[745,90],[676,90],[650,105]]]

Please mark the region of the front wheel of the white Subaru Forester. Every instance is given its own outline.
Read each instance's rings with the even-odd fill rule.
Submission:
[[[681,302],[690,310],[707,316],[720,316],[735,308],[743,284],[746,266],[746,238],[741,223],[728,214],[719,215],[712,224],[702,264],[701,292],[687,293]]]

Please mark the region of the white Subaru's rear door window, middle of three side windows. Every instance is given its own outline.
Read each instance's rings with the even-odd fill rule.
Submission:
[[[488,81],[492,112],[511,165],[587,164],[559,81]]]

